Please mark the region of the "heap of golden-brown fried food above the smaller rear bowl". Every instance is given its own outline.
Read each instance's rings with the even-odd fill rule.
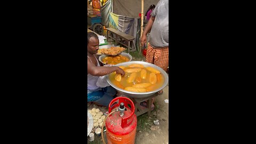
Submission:
[[[125,51],[126,49],[124,47],[119,47],[119,46],[111,46],[110,48],[102,48],[98,50],[98,55],[118,55]]]

